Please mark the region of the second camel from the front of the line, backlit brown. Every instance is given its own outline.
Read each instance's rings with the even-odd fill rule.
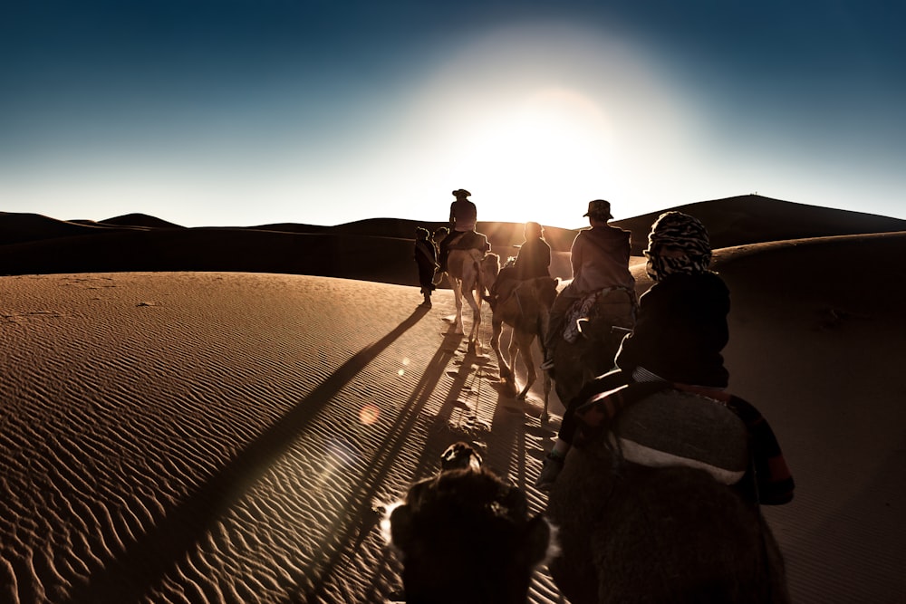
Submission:
[[[544,340],[547,329],[547,315],[557,295],[557,280],[551,277],[539,277],[519,283],[516,289],[505,300],[492,307],[491,348],[494,349],[500,366],[500,380],[506,384],[507,391],[514,393],[517,399],[525,399],[529,388],[535,384],[537,371],[532,354],[535,338]],[[506,323],[513,329],[510,340],[508,359],[500,350],[500,334]],[[522,356],[525,363],[525,386],[516,392],[516,354]],[[547,398],[550,393],[550,381],[545,382],[545,411],[542,421],[546,421]]]

